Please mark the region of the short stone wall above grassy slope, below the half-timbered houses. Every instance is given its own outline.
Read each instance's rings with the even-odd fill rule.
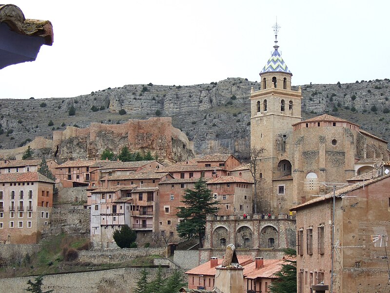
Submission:
[[[91,262],[94,264],[123,262],[139,256],[161,255],[166,257],[167,250],[162,248],[127,248],[116,250],[92,250],[78,251],[78,261]]]

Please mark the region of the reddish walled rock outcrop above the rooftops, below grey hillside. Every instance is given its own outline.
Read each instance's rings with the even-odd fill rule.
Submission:
[[[170,117],[131,119],[118,125],[92,123],[87,128],[69,126],[53,134],[52,154],[59,160],[98,158],[104,149],[119,153],[123,146],[131,152],[151,151],[161,160],[177,162],[194,157],[194,144]]]

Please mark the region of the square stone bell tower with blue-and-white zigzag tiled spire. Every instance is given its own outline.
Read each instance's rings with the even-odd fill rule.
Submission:
[[[251,148],[263,149],[258,160],[257,213],[288,212],[292,198],[292,125],[302,121],[301,89],[291,89],[292,73],[278,51],[260,72],[261,89],[251,89]],[[283,181],[283,182],[282,182]],[[288,182],[287,182],[288,181]],[[291,181],[291,182],[290,182]]]

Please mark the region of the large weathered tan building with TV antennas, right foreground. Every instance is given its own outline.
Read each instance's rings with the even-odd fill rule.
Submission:
[[[386,288],[385,249],[375,247],[371,235],[375,235],[374,227],[390,230],[389,188],[390,175],[385,175],[292,208],[296,212],[298,293],[310,292],[321,281],[333,292],[369,293],[373,288],[376,292]]]

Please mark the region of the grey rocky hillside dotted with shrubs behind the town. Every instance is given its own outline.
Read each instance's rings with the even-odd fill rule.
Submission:
[[[302,116],[306,119],[328,112],[389,139],[389,85],[388,79],[302,85]],[[0,100],[0,147],[22,146],[36,136],[51,138],[53,130],[66,126],[83,128],[92,122],[122,124],[130,118],[170,116],[173,126],[194,141],[197,154],[226,151],[240,157],[250,146],[252,86],[258,90],[260,84],[228,78],[190,86],[125,85],[74,98]]]

